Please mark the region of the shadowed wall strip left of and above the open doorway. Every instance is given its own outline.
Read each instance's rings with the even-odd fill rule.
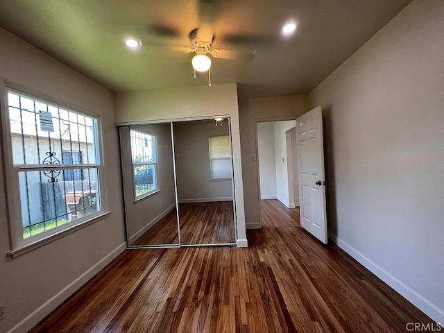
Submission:
[[[262,228],[260,221],[257,123],[296,119],[310,110],[308,95],[246,99],[239,96],[242,173],[247,228]]]

